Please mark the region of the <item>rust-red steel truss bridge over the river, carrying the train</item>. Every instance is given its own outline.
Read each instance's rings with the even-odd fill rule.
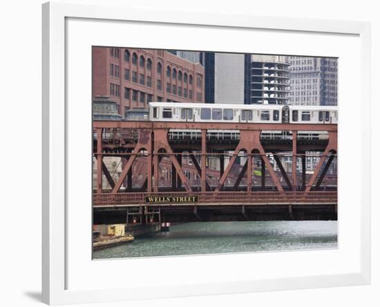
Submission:
[[[268,137],[272,132],[285,137]],[[323,138],[316,137],[322,134]],[[290,215],[292,206],[332,206],[336,213],[336,185],[323,184],[337,157],[336,124],[94,121],[93,135],[95,210],[125,209],[140,221],[144,215],[159,221],[162,212],[180,212],[185,207],[199,220],[202,208],[238,208],[246,219],[246,210],[255,206],[287,206]],[[283,166],[284,152],[292,159],[290,173]],[[305,170],[307,152],[319,153],[312,174]],[[120,176],[111,175],[104,157],[121,158]],[[182,157],[191,166],[182,164]],[[220,159],[218,170],[209,168],[208,157]],[[237,164],[240,157],[245,159]],[[297,170],[298,159],[301,167]],[[170,169],[166,181],[160,170],[163,166]],[[196,180],[189,179],[189,169],[196,173]],[[110,188],[104,189],[104,180]],[[197,201],[146,204],[148,196],[196,196]]]

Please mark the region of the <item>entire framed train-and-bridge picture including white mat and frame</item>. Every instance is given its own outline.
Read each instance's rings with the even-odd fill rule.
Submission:
[[[53,2],[43,52],[44,302],[370,283],[369,23]]]

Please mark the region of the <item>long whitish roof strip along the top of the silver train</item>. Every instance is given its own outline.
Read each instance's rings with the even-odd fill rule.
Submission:
[[[231,108],[235,110],[255,108],[256,110],[274,109],[278,110],[283,106],[289,106],[296,110],[338,110],[337,106],[292,106],[283,104],[233,104],[233,103],[188,103],[188,102],[150,102],[153,107],[173,107],[173,108]]]

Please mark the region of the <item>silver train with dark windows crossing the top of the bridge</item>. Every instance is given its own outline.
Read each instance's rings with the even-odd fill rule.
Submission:
[[[213,123],[338,123],[338,108],[151,102],[149,120]]]

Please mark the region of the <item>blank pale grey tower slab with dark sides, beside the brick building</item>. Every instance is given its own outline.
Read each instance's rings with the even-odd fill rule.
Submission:
[[[249,103],[249,56],[202,52],[206,103]]]

